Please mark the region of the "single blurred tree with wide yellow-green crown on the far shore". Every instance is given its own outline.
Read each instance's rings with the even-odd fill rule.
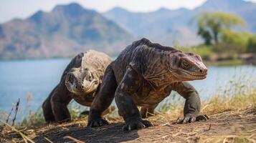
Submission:
[[[245,26],[246,23],[239,16],[224,12],[202,12],[194,16],[192,21],[198,27],[197,34],[202,36],[204,44],[219,44],[219,37],[223,31],[232,29],[234,26]]]

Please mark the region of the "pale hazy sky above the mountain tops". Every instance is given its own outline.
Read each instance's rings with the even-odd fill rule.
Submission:
[[[206,0],[1,0],[0,23],[14,18],[27,18],[39,9],[51,11],[57,4],[77,2],[88,9],[107,11],[115,6],[120,6],[129,11],[154,11],[160,7],[178,9],[186,7],[193,9]],[[256,0],[247,0],[255,1]]]

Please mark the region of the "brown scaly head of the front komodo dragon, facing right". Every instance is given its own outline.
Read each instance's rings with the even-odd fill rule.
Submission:
[[[199,55],[178,51],[171,54],[170,64],[171,74],[179,82],[207,77],[207,67]]]

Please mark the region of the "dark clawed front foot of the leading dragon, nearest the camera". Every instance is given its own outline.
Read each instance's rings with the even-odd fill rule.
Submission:
[[[123,131],[131,131],[133,129],[143,129],[151,126],[152,124],[149,121],[142,120],[142,119],[131,119],[130,121],[125,123],[125,125],[123,126]]]

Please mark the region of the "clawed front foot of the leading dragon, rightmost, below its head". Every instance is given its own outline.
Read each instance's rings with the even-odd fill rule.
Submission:
[[[186,124],[186,123],[202,121],[202,120],[207,121],[208,119],[209,117],[207,116],[207,114],[199,114],[199,115],[186,114],[184,118],[177,119],[177,121],[174,122],[174,124]]]

